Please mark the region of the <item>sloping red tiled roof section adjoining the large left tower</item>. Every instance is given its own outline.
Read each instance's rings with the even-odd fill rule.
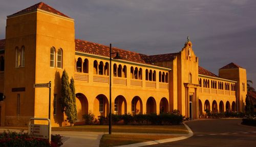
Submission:
[[[75,39],[75,44],[76,44],[76,48],[75,48],[76,51],[102,55],[106,57],[109,57],[110,55],[109,46],[105,46],[105,45],[94,43],[94,42],[79,40],[79,39]],[[150,64],[146,62],[147,55],[145,54],[123,50],[116,47],[112,47],[112,52],[119,52],[119,56],[122,57],[122,60],[143,63],[143,64]],[[112,57],[115,57],[115,54],[112,54]]]

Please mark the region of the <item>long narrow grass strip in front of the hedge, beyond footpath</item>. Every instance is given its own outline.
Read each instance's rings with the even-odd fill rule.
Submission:
[[[107,125],[84,125],[84,126],[66,126],[52,127],[52,131],[87,131],[87,132],[109,132]],[[174,133],[187,134],[185,126],[130,126],[130,125],[114,125],[112,132],[126,133]]]

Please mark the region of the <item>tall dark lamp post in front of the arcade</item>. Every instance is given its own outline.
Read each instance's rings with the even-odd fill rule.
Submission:
[[[112,76],[112,57],[111,55],[112,54],[116,54],[116,56],[114,58],[116,59],[121,59],[121,57],[119,56],[119,53],[118,52],[112,52],[112,45],[110,44],[110,113],[109,113],[109,134],[111,134],[111,131],[112,131],[112,125],[111,125],[111,107],[112,107],[112,102],[111,102],[111,84],[112,84],[112,81],[111,81],[111,76]]]

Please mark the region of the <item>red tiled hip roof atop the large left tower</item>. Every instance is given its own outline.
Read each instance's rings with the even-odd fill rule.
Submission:
[[[35,11],[37,9],[41,9],[41,10],[44,10],[44,11],[47,11],[47,12],[50,12],[50,13],[54,13],[54,14],[57,14],[57,15],[60,15],[60,16],[64,16],[64,17],[70,18],[69,16],[59,12],[58,10],[56,10],[56,9],[52,8],[51,6],[49,6],[49,5],[45,4],[45,3],[42,3],[42,2],[40,2],[38,4],[35,4],[35,5],[33,5],[33,6],[29,7],[29,8],[26,8],[26,9],[24,9],[22,11],[19,11],[17,13],[14,13],[14,14],[12,14],[10,16],[14,16],[14,15],[18,15],[18,14],[23,14],[23,13],[27,13],[27,12],[32,12],[32,11]]]

